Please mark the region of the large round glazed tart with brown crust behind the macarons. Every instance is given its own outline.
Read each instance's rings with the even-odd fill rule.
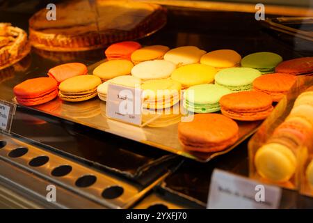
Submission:
[[[79,0],[56,6],[56,20],[47,9],[29,20],[31,45],[48,51],[84,51],[114,42],[142,38],[161,29],[166,11],[153,3],[125,0]]]

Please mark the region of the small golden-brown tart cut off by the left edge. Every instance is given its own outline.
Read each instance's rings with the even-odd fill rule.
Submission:
[[[0,23],[0,69],[20,61],[30,50],[23,29],[11,26],[10,23]]]

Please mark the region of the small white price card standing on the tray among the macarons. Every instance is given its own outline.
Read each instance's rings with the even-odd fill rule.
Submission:
[[[110,83],[106,97],[106,116],[141,125],[142,89]]]

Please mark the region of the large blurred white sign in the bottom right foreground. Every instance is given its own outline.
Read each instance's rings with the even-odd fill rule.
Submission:
[[[211,178],[209,209],[275,209],[280,205],[280,187],[215,169]]]

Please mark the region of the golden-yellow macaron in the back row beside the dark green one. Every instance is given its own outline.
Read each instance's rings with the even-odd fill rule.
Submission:
[[[240,66],[241,56],[232,49],[218,49],[204,54],[200,63],[212,66],[216,70]]]

